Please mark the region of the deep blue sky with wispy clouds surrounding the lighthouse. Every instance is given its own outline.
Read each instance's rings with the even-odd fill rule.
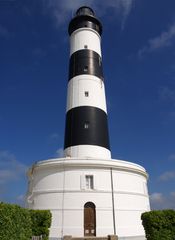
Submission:
[[[0,200],[22,204],[26,169],[61,156],[68,23],[91,6],[112,157],[143,165],[152,208],[175,208],[175,1],[0,0]]]

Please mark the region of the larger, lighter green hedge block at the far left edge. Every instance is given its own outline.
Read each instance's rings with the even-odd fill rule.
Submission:
[[[27,209],[14,204],[0,203],[0,239],[30,240],[31,217]]]

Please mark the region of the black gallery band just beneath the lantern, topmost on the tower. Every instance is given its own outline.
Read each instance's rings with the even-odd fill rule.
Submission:
[[[100,21],[90,15],[81,15],[74,17],[69,23],[69,35],[79,28],[88,27],[97,31],[100,35],[102,34],[102,25]]]

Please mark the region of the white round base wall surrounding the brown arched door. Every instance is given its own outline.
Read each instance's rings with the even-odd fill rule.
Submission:
[[[116,233],[120,236],[144,235],[141,213],[150,210],[147,174],[139,165],[120,161],[87,158],[63,158],[38,162],[29,171],[27,205],[50,209],[50,237],[84,235],[84,204],[96,205],[97,236],[114,234],[111,191],[114,186]],[[94,189],[82,183],[86,175],[94,176]],[[144,186],[144,187],[143,187]]]

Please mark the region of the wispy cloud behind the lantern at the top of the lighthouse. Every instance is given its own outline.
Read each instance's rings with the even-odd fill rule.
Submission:
[[[135,0],[43,0],[45,11],[51,10],[53,17],[58,25],[70,19],[80,6],[87,5],[97,10],[97,15],[105,15],[109,9],[121,18],[121,26],[124,28]]]

